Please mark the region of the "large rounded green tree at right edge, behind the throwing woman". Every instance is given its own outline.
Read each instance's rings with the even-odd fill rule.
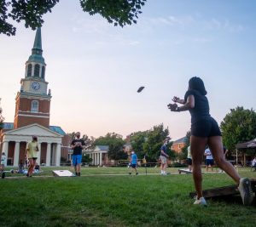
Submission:
[[[256,137],[256,113],[237,106],[231,109],[220,124],[224,145],[228,150],[235,150],[236,144]]]

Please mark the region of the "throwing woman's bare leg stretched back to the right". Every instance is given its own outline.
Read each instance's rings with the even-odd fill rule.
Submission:
[[[235,167],[233,167],[233,165],[230,162],[227,162],[224,158],[224,148],[221,136],[209,137],[208,145],[218,167],[223,169],[225,173],[229,174],[230,177],[236,181],[236,184],[239,184],[240,176],[236,172]]]

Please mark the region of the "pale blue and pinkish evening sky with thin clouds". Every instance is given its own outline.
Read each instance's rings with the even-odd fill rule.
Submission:
[[[84,13],[78,0],[61,1],[44,15],[41,30],[50,125],[125,138],[163,123],[180,139],[189,131],[189,112],[167,105],[174,95],[183,98],[195,76],[205,82],[218,123],[237,106],[255,110],[255,10],[251,0],[148,0],[137,24],[121,28]],[[14,122],[36,33],[15,25],[15,37],[0,35],[5,122]]]

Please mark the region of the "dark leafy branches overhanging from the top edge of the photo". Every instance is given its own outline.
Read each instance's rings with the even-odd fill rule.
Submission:
[[[81,8],[90,15],[101,14],[114,26],[137,23],[138,14],[147,0],[79,0]],[[60,0],[2,0],[0,1],[0,33],[15,36],[16,28],[9,20],[35,30],[44,23],[43,15],[51,12]]]

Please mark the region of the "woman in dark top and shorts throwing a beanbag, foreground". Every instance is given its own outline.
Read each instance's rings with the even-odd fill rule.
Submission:
[[[191,155],[193,160],[193,179],[197,196],[194,204],[207,206],[207,201],[202,195],[201,162],[204,150],[208,145],[218,167],[228,173],[238,184],[238,190],[244,205],[253,202],[253,190],[249,179],[241,178],[230,162],[224,158],[223,143],[218,123],[210,116],[207,91],[200,77],[189,80],[189,88],[184,99],[173,97],[173,104],[167,105],[171,111],[189,111],[191,115]],[[177,103],[182,104],[177,106]]]

